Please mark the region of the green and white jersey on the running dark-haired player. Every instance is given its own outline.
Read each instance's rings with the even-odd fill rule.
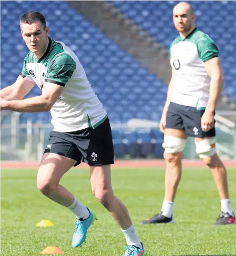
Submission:
[[[43,89],[49,82],[64,86],[63,93],[51,109],[55,131],[69,132],[96,128],[107,117],[77,56],[62,42],[49,38],[44,56],[37,59],[29,52],[24,60],[22,77]]]

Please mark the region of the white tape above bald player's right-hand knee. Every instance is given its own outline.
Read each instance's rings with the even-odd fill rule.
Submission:
[[[211,148],[211,145],[214,143],[216,143],[216,137],[209,139],[206,138],[201,141],[195,142],[196,153],[199,155],[200,158],[213,156],[217,152],[216,147]]]

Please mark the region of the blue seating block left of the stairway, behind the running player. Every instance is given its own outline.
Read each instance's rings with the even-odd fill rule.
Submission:
[[[41,1],[2,3],[2,87],[12,84],[22,69],[28,49],[20,35],[19,18],[31,10],[42,12],[50,27],[50,36],[63,41],[79,57],[111,122],[126,122],[135,117],[160,118],[167,90],[162,81],[63,1],[48,2],[47,9]],[[8,75],[9,70],[11,75]],[[35,86],[28,97],[37,94],[40,94],[40,90]],[[50,121],[47,112],[21,114],[20,121],[26,122],[29,117],[33,122]]]

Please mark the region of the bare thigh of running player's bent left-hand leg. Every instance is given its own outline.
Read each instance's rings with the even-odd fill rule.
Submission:
[[[44,153],[37,174],[37,187],[56,186],[61,177],[75,165],[77,161],[57,153]]]

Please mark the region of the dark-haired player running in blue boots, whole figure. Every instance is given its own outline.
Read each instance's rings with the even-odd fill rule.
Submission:
[[[71,245],[80,246],[96,214],[59,182],[71,167],[87,162],[95,197],[126,237],[124,256],[145,255],[126,207],[112,191],[110,165],[114,163],[114,149],[109,119],[84,68],[63,42],[48,37],[49,28],[42,14],[25,13],[20,18],[20,29],[30,52],[16,82],[1,90],[1,110],[51,111],[54,129],[38,169],[38,189],[75,214]],[[42,89],[42,95],[23,99],[35,84]]]

